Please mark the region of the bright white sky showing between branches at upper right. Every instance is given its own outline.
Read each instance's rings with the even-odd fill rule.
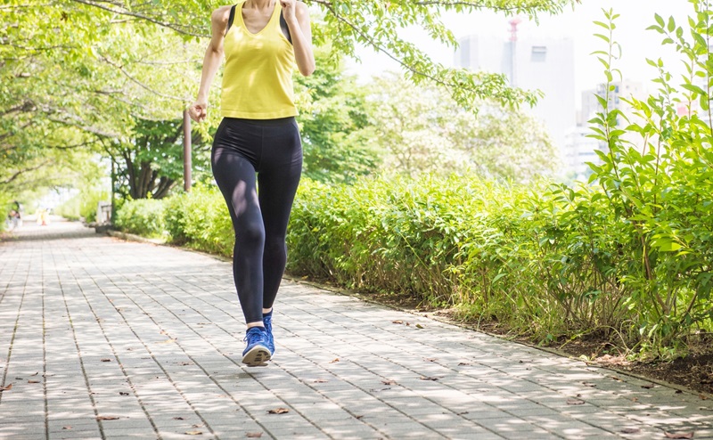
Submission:
[[[648,83],[655,76],[655,71],[646,64],[646,58],[663,58],[668,61],[669,69],[680,69],[674,52],[670,47],[662,47],[663,39],[652,30],[645,30],[654,21],[654,13],[668,20],[673,15],[676,23],[683,24],[685,17],[692,14],[693,6],[686,0],[582,0],[574,11],[568,9],[561,15],[540,19],[539,26],[534,22],[520,24],[522,36],[528,32],[537,32],[548,37],[571,37],[575,45],[575,88],[579,105],[580,92],[602,83],[602,65],[596,61],[592,52],[604,48],[602,40],[593,37],[599,29],[592,21],[603,20],[602,8],[610,8],[621,15],[616,21],[618,29],[615,39],[623,47],[623,59],[619,62],[625,79]],[[455,37],[465,37],[474,33],[484,35],[501,34],[507,37],[508,18],[492,12],[480,12],[472,15],[448,14],[444,16],[447,26]],[[535,29],[537,27],[537,29]],[[430,40],[429,37],[414,32],[404,31],[404,37],[421,45],[434,61],[453,65],[453,51]],[[350,64],[350,69],[359,77],[371,77],[383,70],[397,70],[398,66],[386,56],[373,53],[371,49],[360,52],[362,64]]]

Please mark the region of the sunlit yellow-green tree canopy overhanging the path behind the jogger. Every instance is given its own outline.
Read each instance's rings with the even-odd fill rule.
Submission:
[[[435,40],[455,46],[454,35],[442,21],[445,12],[496,10],[537,18],[561,12],[577,0],[305,3],[313,11],[315,43],[339,55],[332,59],[356,57],[357,47],[372,47],[396,60],[414,83],[441,86],[458,105],[469,108],[486,99],[517,107],[535,102],[538,92],[512,88],[502,75],[435,63],[400,37],[400,29],[420,28]],[[11,183],[16,187],[37,183],[37,173],[43,175],[42,184],[71,183],[70,171],[41,170],[61,165],[81,171],[92,151],[106,156],[108,143],[136,145],[132,138],[136,121],[180,118],[185,105],[193,101],[209,37],[210,12],[218,5],[213,0],[6,0],[0,6],[0,190],[11,191]],[[309,81],[304,85],[316,86]],[[217,102],[217,89],[213,87],[210,102]],[[350,99],[358,102],[360,98],[352,94]],[[336,145],[358,131],[359,118],[345,125],[344,118],[354,114],[335,115],[331,121],[325,115],[309,115],[306,124],[318,127],[339,122],[342,134],[319,142],[320,147],[331,143],[331,151],[344,156],[344,148]],[[195,126],[195,130],[207,140],[216,123],[213,111],[209,124]],[[313,132],[307,142],[317,140]],[[354,140],[356,134],[351,136]],[[352,175],[372,163],[371,153],[364,153],[363,160],[357,160],[356,168],[349,171]],[[333,165],[328,158],[313,159],[316,173]]]

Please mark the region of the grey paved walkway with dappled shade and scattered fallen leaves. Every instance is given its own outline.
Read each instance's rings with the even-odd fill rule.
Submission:
[[[274,362],[243,367],[229,263],[26,224],[0,243],[0,437],[713,438],[699,395],[291,281],[275,308]]]

